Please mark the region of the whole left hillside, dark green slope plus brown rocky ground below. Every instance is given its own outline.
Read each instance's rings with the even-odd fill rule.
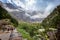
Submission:
[[[17,26],[18,21],[0,5],[0,40],[22,40],[22,35],[16,30]]]

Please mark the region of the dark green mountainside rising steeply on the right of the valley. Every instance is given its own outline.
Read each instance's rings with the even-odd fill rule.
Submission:
[[[47,18],[45,18],[43,20],[42,23],[43,23],[44,26],[49,26],[49,27],[54,26],[54,27],[56,27],[57,24],[60,22],[59,17],[60,17],[60,5],[57,6],[53,10],[53,12],[49,16],[47,16]]]

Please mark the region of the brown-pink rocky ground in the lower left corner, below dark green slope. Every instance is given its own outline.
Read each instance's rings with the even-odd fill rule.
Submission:
[[[10,20],[3,19],[0,20],[0,28],[2,33],[0,34],[0,39],[2,40],[22,40],[22,35],[17,32],[15,27],[11,25]]]

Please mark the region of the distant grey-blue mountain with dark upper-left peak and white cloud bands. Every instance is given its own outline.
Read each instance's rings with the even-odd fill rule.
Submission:
[[[21,6],[14,6],[12,3],[2,3],[3,8],[6,9],[12,17],[16,18],[17,20],[22,20],[25,22],[41,22],[44,18],[40,18],[37,14],[40,11],[29,11],[25,10]],[[39,18],[37,18],[38,16]]]

